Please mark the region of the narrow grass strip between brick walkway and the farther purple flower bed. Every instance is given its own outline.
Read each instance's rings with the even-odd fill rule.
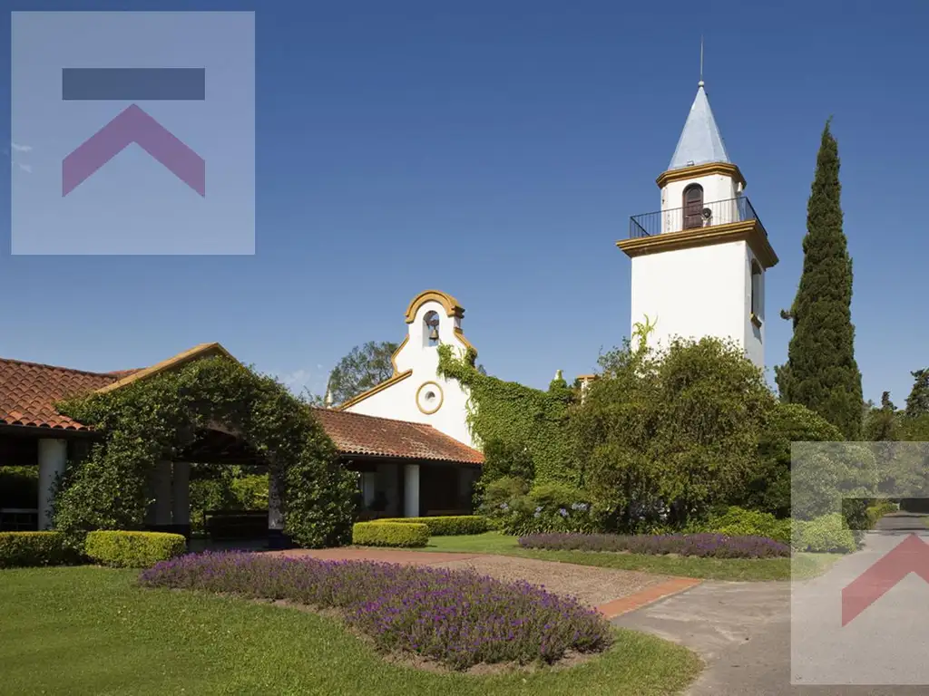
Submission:
[[[482,535],[433,536],[424,551],[494,553],[541,561],[561,561],[577,565],[595,565],[661,575],[680,575],[707,580],[790,580],[815,577],[824,573],[838,554],[794,554],[793,559],[702,559],[679,556],[651,556],[636,553],[598,551],[548,551],[520,548],[517,537],[500,532]],[[792,575],[793,574],[793,575]]]

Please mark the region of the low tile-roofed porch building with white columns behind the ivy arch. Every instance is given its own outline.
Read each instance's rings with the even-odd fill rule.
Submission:
[[[80,462],[98,440],[84,423],[60,414],[66,396],[105,392],[165,369],[210,355],[229,356],[216,343],[203,344],[141,370],[97,373],[0,358],[0,469],[30,471],[32,492],[15,506],[0,500],[0,531],[53,528],[53,496],[68,466]],[[359,472],[362,519],[466,514],[483,455],[424,423],[314,408],[343,466]],[[179,438],[189,443],[157,462],[150,472],[144,526],[190,537],[191,468],[240,465],[270,470],[249,443],[223,423],[210,422]],[[283,483],[269,474],[267,534],[271,546],[283,537]],[[31,498],[31,500],[29,499]],[[264,512],[253,510],[254,513]],[[260,522],[260,521],[259,521]]]

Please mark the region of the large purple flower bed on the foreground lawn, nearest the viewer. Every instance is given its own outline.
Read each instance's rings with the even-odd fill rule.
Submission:
[[[453,669],[554,663],[567,651],[602,651],[611,640],[604,618],[575,599],[470,571],[224,552],[160,562],[139,583],[337,609],[378,648]]]

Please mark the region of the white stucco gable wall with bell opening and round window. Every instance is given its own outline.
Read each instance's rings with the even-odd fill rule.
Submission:
[[[358,404],[348,406],[346,410],[367,416],[427,423],[465,445],[477,447],[478,444],[472,439],[467,427],[467,402],[470,394],[456,380],[446,380],[438,376],[438,349],[425,344],[424,319],[430,311],[438,314],[439,342],[451,345],[460,355],[464,355],[466,346],[454,330],[456,327],[460,328],[460,319],[448,316],[441,303],[425,302],[416,311],[412,323],[407,325],[408,340],[396,356],[398,373],[412,369],[412,375],[374,393]],[[416,393],[426,382],[436,382],[441,390],[441,406],[432,414],[424,413],[417,406]],[[426,392],[428,389],[426,387],[423,391]]]

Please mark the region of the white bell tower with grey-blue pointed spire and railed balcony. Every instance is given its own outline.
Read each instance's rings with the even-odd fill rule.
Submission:
[[[765,367],[765,271],[778,263],[743,195],[700,80],[667,171],[661,210],[634,215],[616,242],[632,259],[632,323],[654,325],[649,344],[675,336],[732,339]]]

